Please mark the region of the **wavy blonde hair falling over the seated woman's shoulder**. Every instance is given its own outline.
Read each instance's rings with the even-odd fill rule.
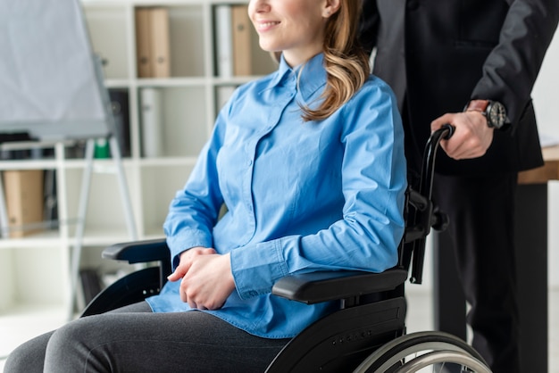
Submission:
[[[303,106],[303,120],[324,120],[355,95],[368,79],[371,68],[369,56],[359,46],[357,27],[361,16],[361,1],[342,0],[338,12],[326,23],[324,37],[324,66],[326,89],[321,105],[316,109]]]

